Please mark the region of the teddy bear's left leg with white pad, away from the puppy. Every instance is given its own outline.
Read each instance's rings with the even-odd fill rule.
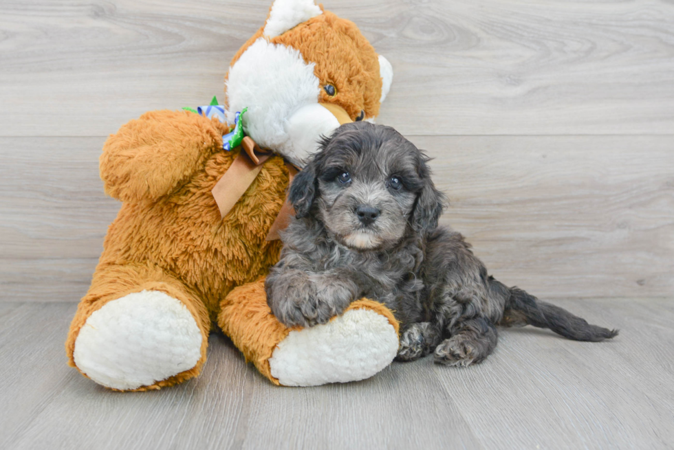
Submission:
[[[210,319],[191,289],[157,267],[98,267],[65,347],[69,364],[115,390],[181,383],[206,361]]]

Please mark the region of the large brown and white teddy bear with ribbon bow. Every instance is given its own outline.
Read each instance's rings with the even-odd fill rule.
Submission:
[[[199,374],[217,323],[276,384],[386,367],[398,350],[387,308],[363,299],[290,330],[263,280],[279,259],[294,167],[320,135],[373,120],[392,76],[354,23],[313,0],[276,0],[232,59],[221,119],[153,111],[111,135],[100,176],[123,203],[72,321],[69,364],[111,389],[159,389]]]

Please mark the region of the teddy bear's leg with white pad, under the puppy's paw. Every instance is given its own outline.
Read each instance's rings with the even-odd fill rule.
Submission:
[[[398,322],[386,306],[358,300],[327,324],[287,328],[267,304],[264,278],[232,290],[218,325],[272,383],[315,386],[373,376],[398,352]]]

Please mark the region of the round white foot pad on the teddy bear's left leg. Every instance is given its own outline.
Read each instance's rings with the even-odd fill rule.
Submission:
[[[180,300],[142,291],[94,311],[80,329],[73,357],[96,383],[133,390],[193,368],[201,347],[202,333]]]

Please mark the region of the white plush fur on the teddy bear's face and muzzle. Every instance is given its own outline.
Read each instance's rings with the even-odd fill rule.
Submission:
[[[314,63],[307,64],[292,47],[270,44],[264,38],[255,41],[230,67],[227,80],[229,110],[227,120],[234,122],[235,113],[248,107],[245,131],[263,148],[272,148],[293,164],[303,166],[309,150],[306,133],[294,142],[288,127],[296,128],[292,117],[304,106],[318,104],[320,86],[314,75]],[[310,117],[305,117],[310,118]],[[323,124],[323,120],[319,120]],[[313,131],[317,141],[324,126],[307,120],[304,126]]]

